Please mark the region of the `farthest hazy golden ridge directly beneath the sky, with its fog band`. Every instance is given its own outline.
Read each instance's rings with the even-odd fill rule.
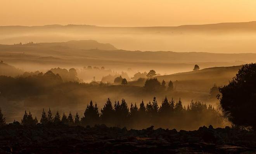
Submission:
[[[0,44],[97,40],[118,49],[254,53],[256,21],[165,27],[0,26]]]

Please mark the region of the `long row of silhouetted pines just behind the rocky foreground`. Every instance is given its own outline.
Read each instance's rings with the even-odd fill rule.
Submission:
[[[1,116],[0,116],[1,120]],[[17,121],[15,121],[17,123]],[[22,125],[36,125],[38,120],[33,119],[31,113],[25,111]],[[82,125],[82,126],[94,126],[95,124],[104,123],[109,127],[128,127],[128,128],[147,128],[151,125],[155,127],[163,128],[183,128],[183,129],[197,129],[202,125],[214,125],[220,127],[222,125],[222,119],[219,113],[213,106],[203,104],[201,102],[194,102],[185,107],[182,105],[182,101],[168,101],[165,97],[158,106],[156,97],[153,101],[147,104],[142,102],[137,104],[131,103],[130,109],[125,101],[115,101],[112,104],[110,99],[104,104],[104,107],[99,112],[97,103],[87,105],[86,110],[82,118],[78,113],[73,118],[73,115],[69,113],[68,116],[63,113],[62,118],[59,112],[53,116],[52,111],[49,109],[48,113],[43,110],[40,120],[42,124],[67,124],[67,125]]]

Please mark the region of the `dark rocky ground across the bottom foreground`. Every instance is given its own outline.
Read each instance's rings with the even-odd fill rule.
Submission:
[[[149,127],[143,130],[106,127],[0,128],[0,154],[123,154],[123,153],[256,153],[256,133],[230,127],[194,131]]]

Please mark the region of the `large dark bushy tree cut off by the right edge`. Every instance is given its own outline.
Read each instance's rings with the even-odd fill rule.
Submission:
[[[256,63],[243,65],[228,85],[220,87],[224,116],[237,126],[256,130]]]

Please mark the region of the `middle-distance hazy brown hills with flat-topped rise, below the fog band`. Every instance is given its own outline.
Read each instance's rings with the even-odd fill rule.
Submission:
[[[0,60],[25,71],[46,71],[47,68],[54,67],[83,68],[92,65],[117,71],[132,68],[130,75],[150,69],[160,74],[173,74],[192,70],[195,64],[200,68],[209,68],[256,62],[256,53],[129,51],[117,50],[111,44],[87,40],[0,44]]]

